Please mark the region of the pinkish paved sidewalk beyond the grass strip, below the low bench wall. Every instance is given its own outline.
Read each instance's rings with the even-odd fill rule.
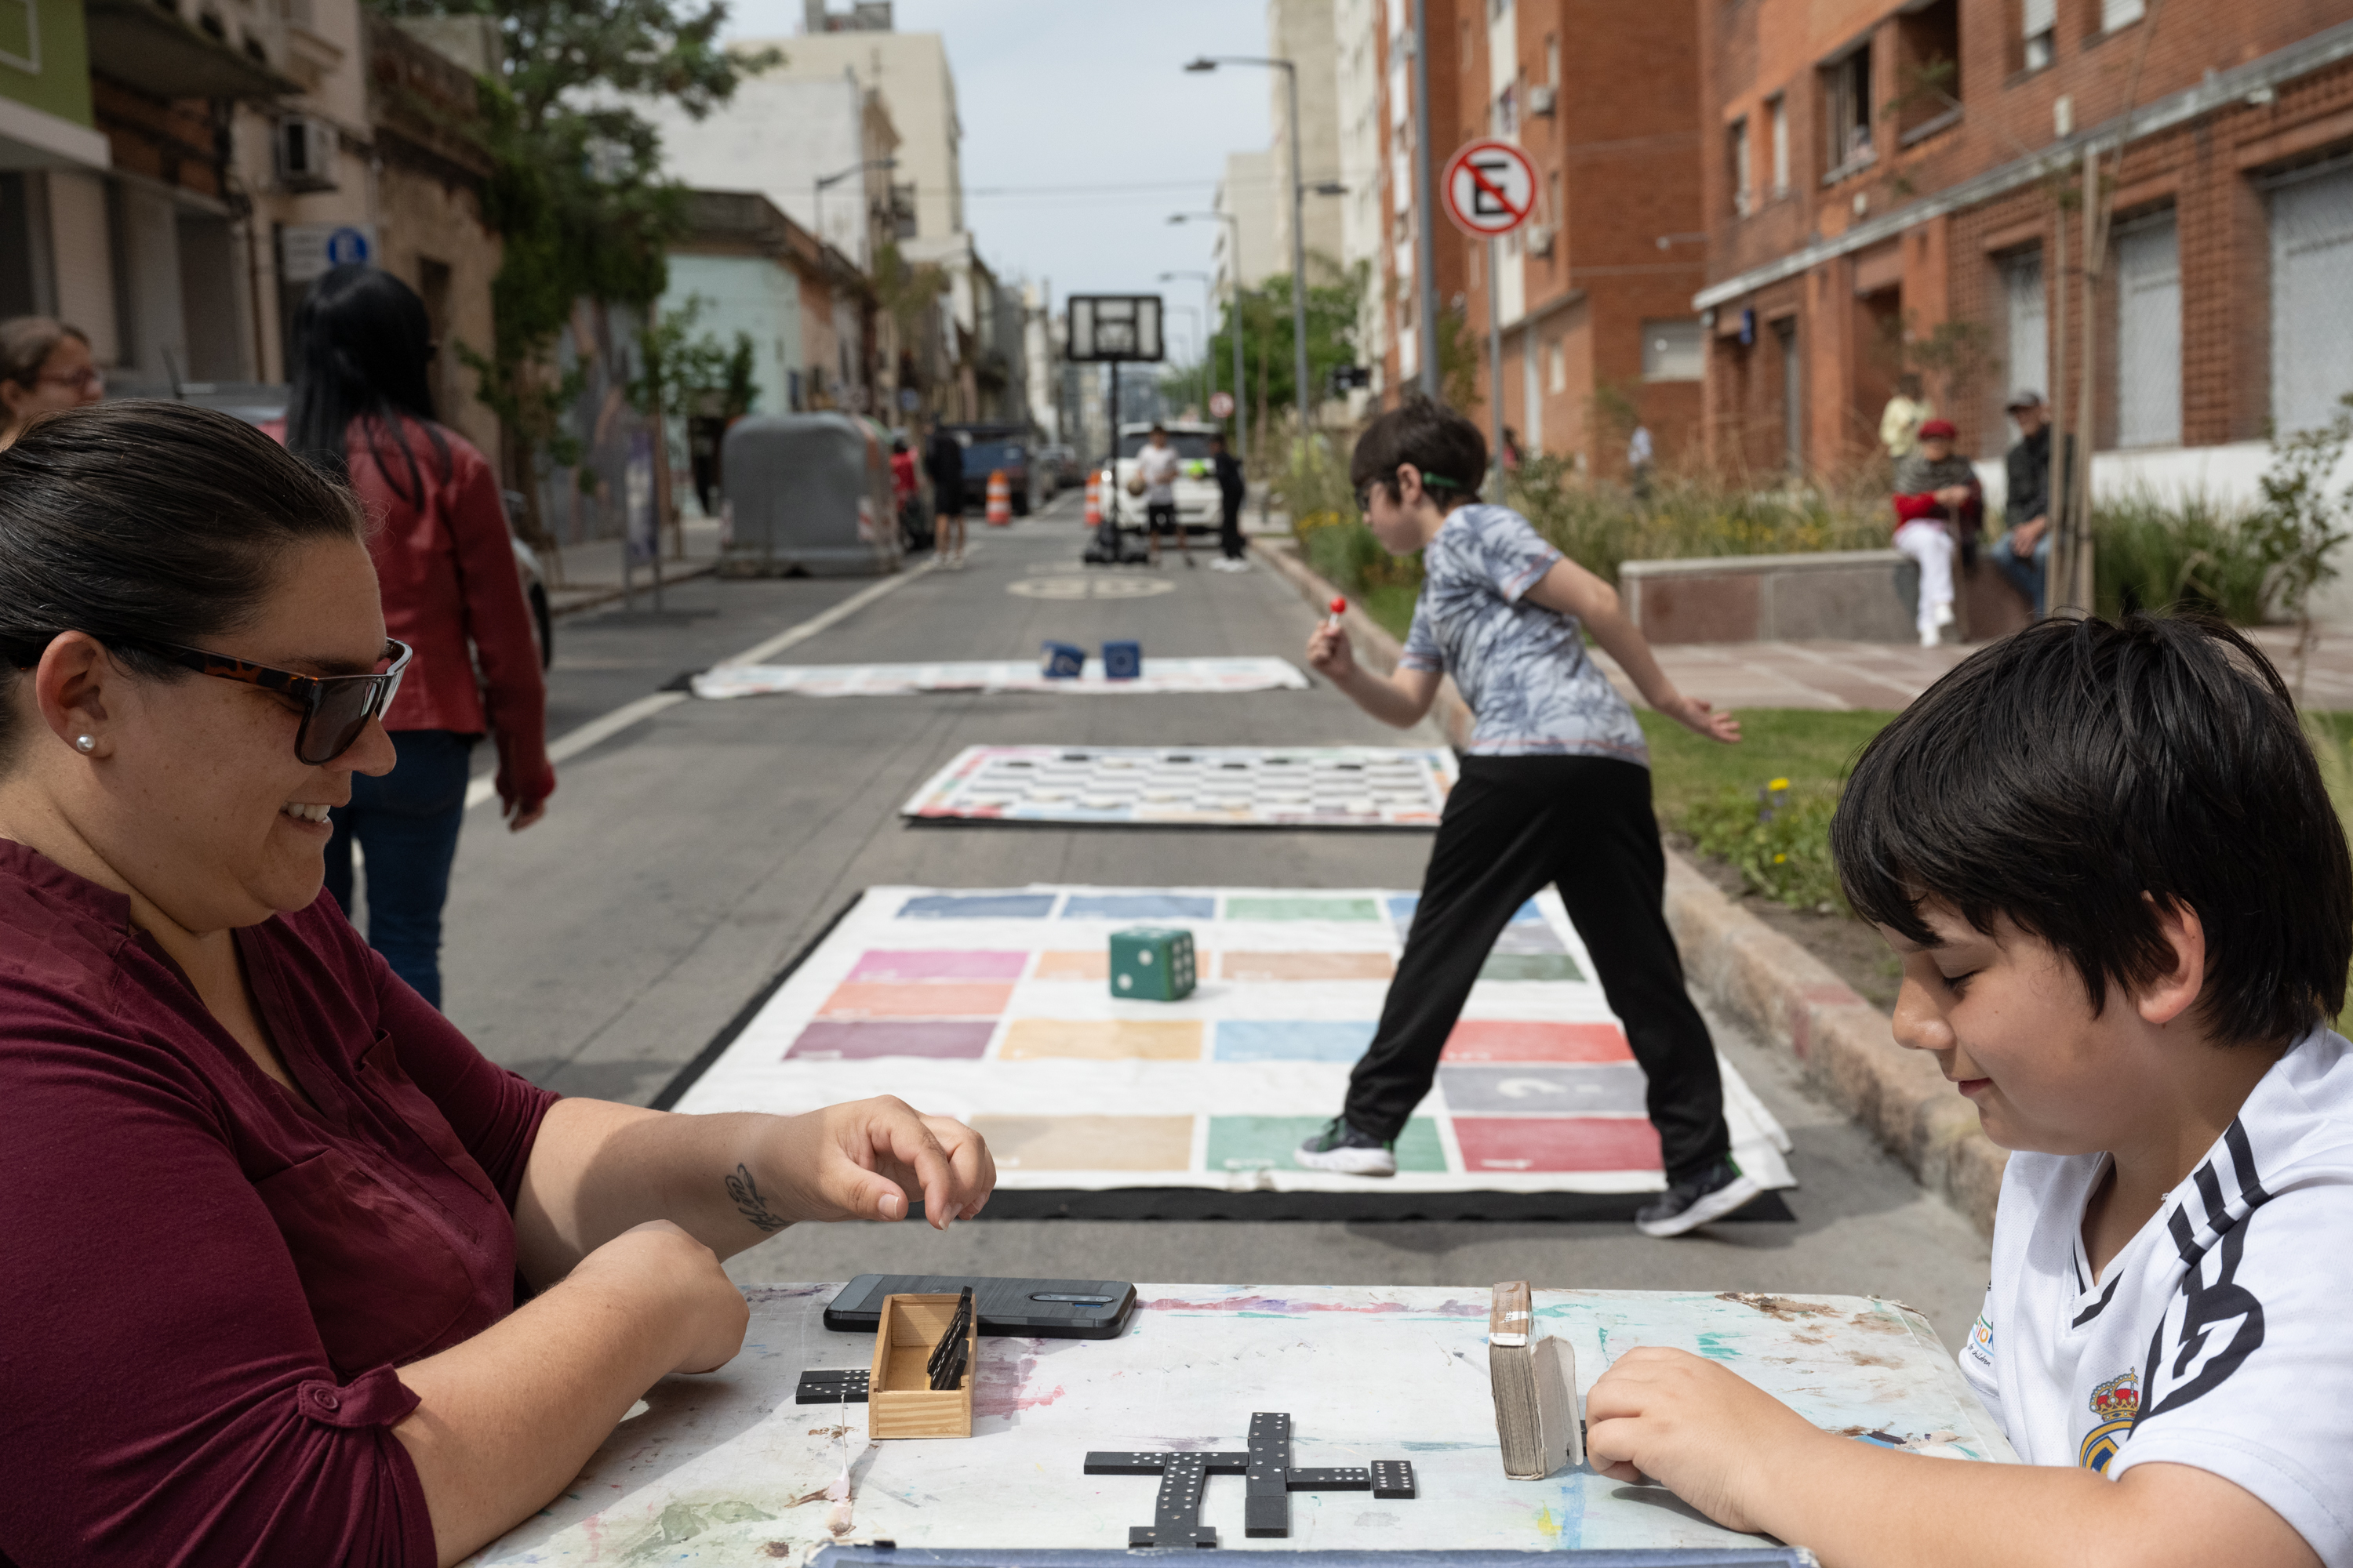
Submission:
[[[2266,625],[2247,632],[2297,682],[2297,632]],[[1974,646],[1918,649],[1887,642],[1685,642],[1652,649],[1678,689],[1718,708],[1904,708],[1974,654]],[[1633,682],[1593,649],[1612,684],[1635,698]],[[2325,630],[2304,675],[2304,705],[2353,708],[2353,632]]]

